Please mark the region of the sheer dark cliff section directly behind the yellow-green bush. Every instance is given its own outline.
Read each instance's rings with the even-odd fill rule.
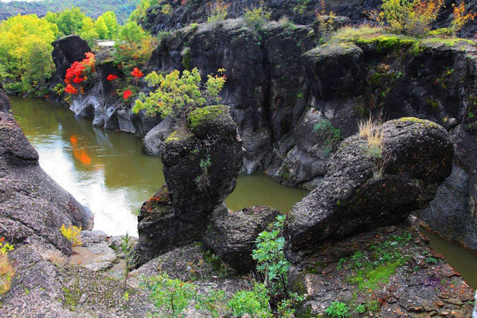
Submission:
[[[226,69],[221,97],[231,107],[247,151],[246,173],[265,170],[273,159],[273,142],[300,120],[308,98],[301,60],[315,42],[310,26],[272,22],[264,28],[262,36],[241,20],[183,28],[169,34],[150,60],[154,70],[196,67],[203,78]]]

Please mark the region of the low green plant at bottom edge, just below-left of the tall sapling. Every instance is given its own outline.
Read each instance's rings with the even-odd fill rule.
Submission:
[[[241,290],[229,300],[232,317],[271,318],[270,299],[264,284],[256,283],[253,290]]]

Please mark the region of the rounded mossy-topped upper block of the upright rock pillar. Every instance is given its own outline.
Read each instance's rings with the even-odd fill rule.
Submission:
[[[189,132],[174,131],[164,144],[164,179],[177,217],[203,223],[234,191],[244,151],[229,107],[199,108],[190,121]]]

